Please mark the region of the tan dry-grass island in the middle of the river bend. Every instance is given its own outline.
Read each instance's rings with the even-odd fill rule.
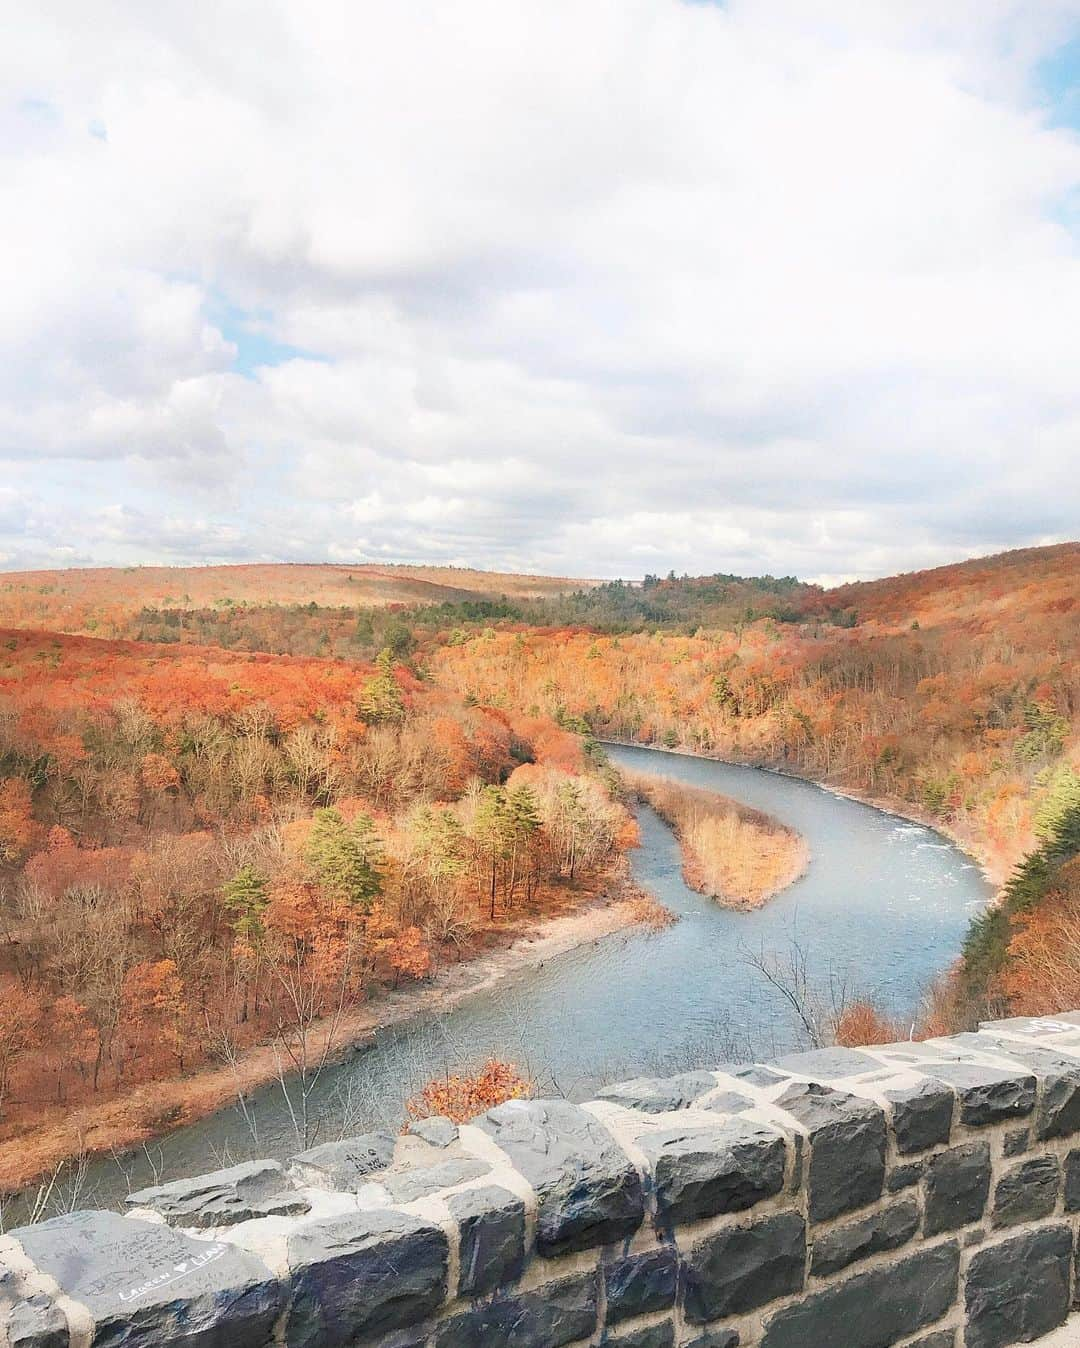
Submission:
[[[630,790],[676,830],[690,888],[725,907],[760,907],[806,869],[805,840],[771,816],[670,778],[624,776]]]

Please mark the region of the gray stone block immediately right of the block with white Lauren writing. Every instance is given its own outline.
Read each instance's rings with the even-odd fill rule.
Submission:
[[[403,1212],[355,1212],[294,1231],[289,1267],[289,1348],[347,1348],[442,1304],[446,1235]]]

